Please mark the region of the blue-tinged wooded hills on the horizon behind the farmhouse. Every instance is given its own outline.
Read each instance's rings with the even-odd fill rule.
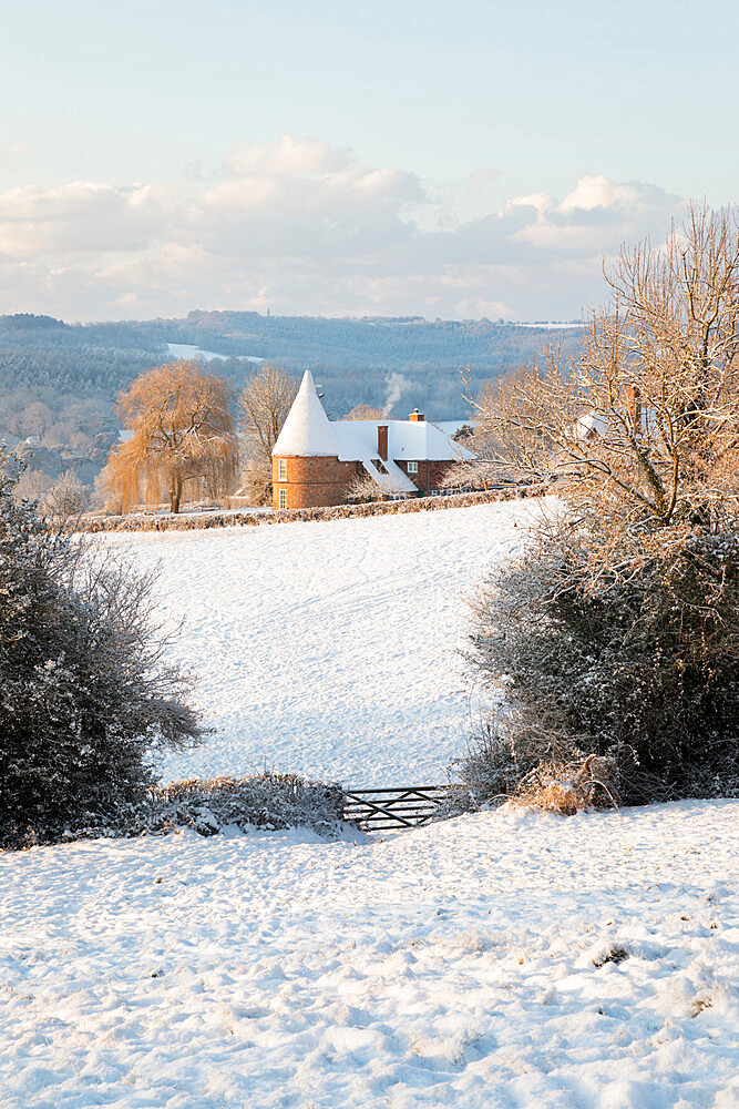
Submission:
[[[235,388],[259,359],[296,377],[311,369],[333,417],[369,404],[392,416],[418,406],[431,419],[450,419],[466,415],[461,369],[469,368],[478,389],[531,362],[548,342],[572,352],[579,334],[576,324],[418,316],[331,319],[198,311],[182,319],[103,324],[66,324],[30,313],[0,316],[0,437],[14,446],[33,436],[58,451],[60,466],[68,459],[79,469],[79,459],[88,458],[100,467],[100,431],[111,423],[117,393],[153,366],[182,357],[170,344],[207,352],[209,372]]]

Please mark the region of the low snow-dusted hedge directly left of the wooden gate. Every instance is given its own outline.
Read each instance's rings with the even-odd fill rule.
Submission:
[[[194,828],[217,835],[227,827],[309,827],[336,834],[343,813],[343,791],[337,783],[311,782],[296,774],[265,773],[250,777],[217,777],[150,786],[137,798],[119,800],[104,811],[74,814],[57,840],[166,835]],[[30,846],[49,837],[29,830],[11,846]],[[8,845],[8,844],[7,844]]]

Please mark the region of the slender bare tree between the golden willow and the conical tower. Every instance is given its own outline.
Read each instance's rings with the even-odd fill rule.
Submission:
[[[247,462],[245,485],[271,499],[271,452],[298,391],[292,377],[263,363],[238,397],[239,434]]]

